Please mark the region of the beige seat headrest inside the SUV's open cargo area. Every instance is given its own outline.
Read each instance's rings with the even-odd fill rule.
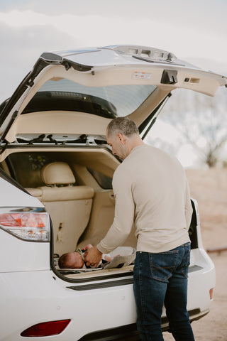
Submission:
[[[65,162],[48,163],[41,169],[41,178],[46,185],[69,185],[76,182],[70,166]]]

